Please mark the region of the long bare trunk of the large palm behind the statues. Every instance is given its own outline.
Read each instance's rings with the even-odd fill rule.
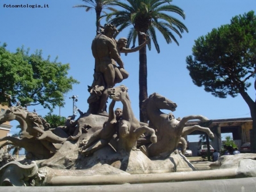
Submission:
[[[139,45],[144,43],[142,35],[138,35]],[[139,108],[141,109],[142,101],[147,98],[147,49],[144,46],[139,50]],[[139,119],[146,123],[142,111],[139,111]]]

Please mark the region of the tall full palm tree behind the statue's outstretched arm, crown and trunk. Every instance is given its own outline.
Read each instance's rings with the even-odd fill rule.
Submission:
[[[179,7],[171,5],[172,0],[127,0],[124,2],[113,2],[110,5],[122,7],[119,11],[111,9],[112,12],[107,15],[106,20],[118,27],[118,31],[122,31],[126,27],[132,25],[127,37],[127,47],[131,42],[135,45],[138,37],[138,43],[141,45],[144,42],[146,34],[151,37],[156,51],[159,53],[160,48],[156,39],[156,31],[166,39],[167,44],[175,41],[179,43],[172,32],[175,32],[179,37],[187,27],[180,20],[168,15],[166,12],[175,12],[185,19],[184,11]],[[151,49],[151,42],[148,43],[148,48]],[[139,108],[141,108],[142,101],[147,98],[147,52],[146,46],[139,50]],[[144,122],[143,114],[140,111],[140,120]]]

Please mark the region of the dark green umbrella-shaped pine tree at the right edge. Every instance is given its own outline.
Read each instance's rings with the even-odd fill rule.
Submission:
[[[216,97],[241,94],[253,119],[251,151],[256,152],[256,103],[247,94],[252,79],[256,89],[256,16],[254,11],[234,16],[230,24],[214,28],[195,40],[187,69],[197,86]]]

